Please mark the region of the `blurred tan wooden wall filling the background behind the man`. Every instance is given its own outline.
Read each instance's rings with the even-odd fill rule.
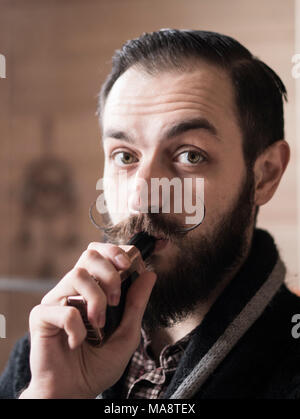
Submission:
[[[101,240],[88,209],[103,170],[95,112],[112,54],[127,39],[166,27],[231,35],[283,79],[292,159],[258,221],[298,286],[294,1],[0,0],[0,370],[27,331],[31,308],[89,242]]]

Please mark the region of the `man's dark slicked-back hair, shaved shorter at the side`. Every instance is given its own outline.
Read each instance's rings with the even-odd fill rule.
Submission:
[[[115,81],[131,66],[138,65],[149,74],[158,74],[163,70],[187,70],[195,59],[217,65],[231,77],[244,158],[252,166],[261,152],[284,138],[283,99],[287,100],[287,92],[270,67],[229,36],[162,29],[127,41],[114,54],[112,71],[99,95],[99,114]]]

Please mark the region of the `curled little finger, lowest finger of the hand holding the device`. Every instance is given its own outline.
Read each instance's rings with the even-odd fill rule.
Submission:
[[[40,304],[30,312],[29,327],[32,339],[53,337],[64,330],[70,349],[81,345],[86,337],[80,313],[74,307]]]

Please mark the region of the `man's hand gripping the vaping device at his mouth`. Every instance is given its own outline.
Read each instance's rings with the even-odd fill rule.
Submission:
[[[140,342],[156,274],[144,271],[133,282],[120,326],[98,348],[85,341],[79,311],[64,303],[67,296],[82,295],[90,323],[103,327],[107,304],[119,301],[118,271],[130,265],[126,247],[91,243],[75,267],[33,308],[29,319],[32,379],[20,398],[95,398],[122,376]]]

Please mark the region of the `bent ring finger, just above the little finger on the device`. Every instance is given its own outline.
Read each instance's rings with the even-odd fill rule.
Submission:
[[[60,304],[65,298],[81,295],[87,303],[87,316],[94,327],[103,327],[107,299],[89,272],[74,268],[42,299],[42,304]]]

